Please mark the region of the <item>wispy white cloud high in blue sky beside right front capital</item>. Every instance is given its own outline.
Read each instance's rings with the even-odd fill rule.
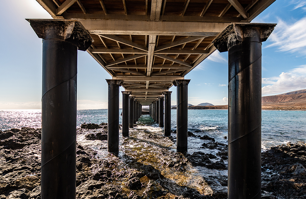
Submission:
[[[278,20],[278,25],[271,33],[271,44],[267,47],[277,47],[279,51],[306,54],[306,17],[294,24]]]

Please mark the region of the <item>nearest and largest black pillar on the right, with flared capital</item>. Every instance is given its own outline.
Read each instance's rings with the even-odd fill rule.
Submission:
[[[215,40],[229,56],[228,198],[261,198],[261,45],[275,24],[230,24]]]

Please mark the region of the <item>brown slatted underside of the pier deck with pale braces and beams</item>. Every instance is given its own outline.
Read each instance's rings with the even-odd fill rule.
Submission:
[[[37,0],[54,19],[80,21],[87,52],[125,91],[150,105],[216,48],[232,22],[250,22],[275,0]]]

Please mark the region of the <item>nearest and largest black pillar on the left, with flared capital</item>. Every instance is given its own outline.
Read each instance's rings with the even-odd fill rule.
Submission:
[[[76,197],[77,50],[92,38],[78,21],[28,20],[43,39],[41,198]]]

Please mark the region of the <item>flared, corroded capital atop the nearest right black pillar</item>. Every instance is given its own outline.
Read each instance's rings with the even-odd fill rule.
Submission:
[[[231,23],[213,41],[219,52],[226,52],[233,44],[243,41],[264,42],[276,24]]]

